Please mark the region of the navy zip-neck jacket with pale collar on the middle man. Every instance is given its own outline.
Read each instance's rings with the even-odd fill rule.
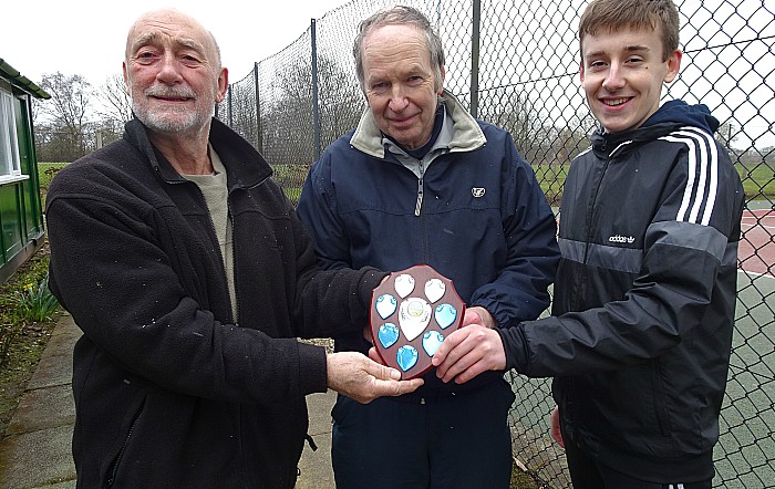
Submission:
[[[446,92],[442,103],[446,116],[423,159],[384,137],[366,110],[310,169],[299,216],[324,268],[428,264],[499,326],[535,319],[559,260],[551,208],[507,132],[475,121]],[[337,337],[338,350],[368,347],[360,334]],[[496,377],[445,385],[430,372],[414,394]]]

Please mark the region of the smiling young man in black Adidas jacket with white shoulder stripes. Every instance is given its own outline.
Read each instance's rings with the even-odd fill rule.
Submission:
[[[576,488],[710,488],[743,189],[704,105],[660,107],[681,63],[670,0],[593,0],[579,37],[601,127],[565,184],[554,315],[459,330],[434,363],[445,382],[554,376]]]

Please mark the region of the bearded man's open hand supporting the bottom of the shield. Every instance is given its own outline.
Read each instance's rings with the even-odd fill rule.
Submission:
[[[423,385],[422,378],[401,381],[395,368],[380,365],[356,352],[330,353],[326,356],[330,388],[368,404],[381,396],[400,396]]]

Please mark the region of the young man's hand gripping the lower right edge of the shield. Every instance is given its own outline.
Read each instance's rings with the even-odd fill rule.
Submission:
[[[505,370],[506,352],[496,331],[472,324],[447,336],[432,363],[438,378],[463,384],[483,372]]]

